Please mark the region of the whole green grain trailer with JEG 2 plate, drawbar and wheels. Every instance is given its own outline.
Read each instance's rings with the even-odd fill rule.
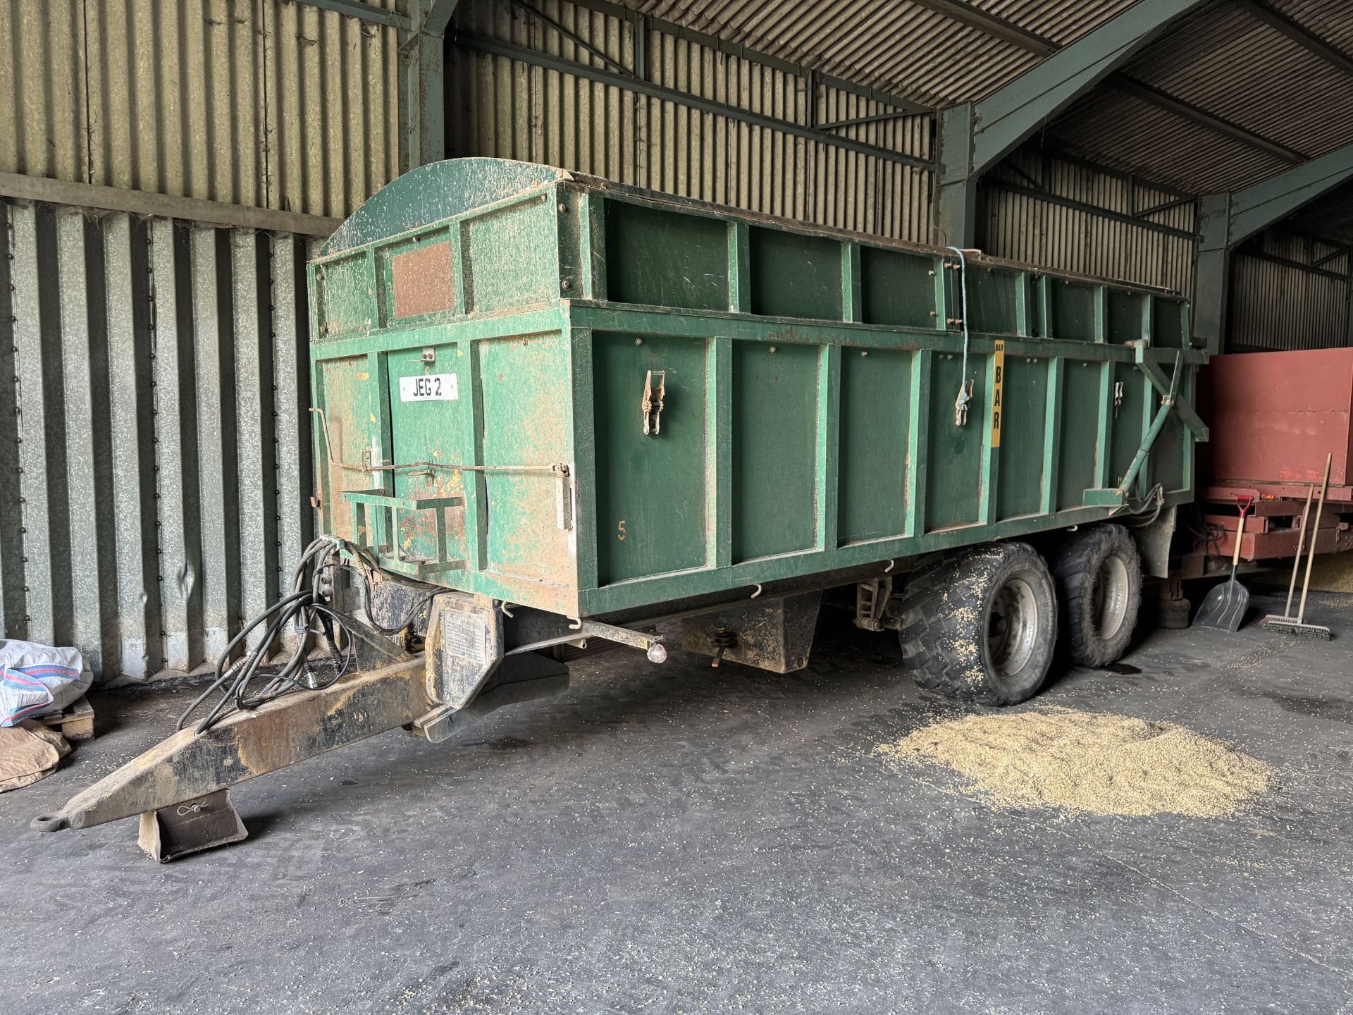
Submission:
[[[1174,294],[548,166],[415,169],[308,272],[302,602],[352,664],[237,693],[43,827],[442,739],[566,686],[586,640],[660,662],[663,620],[716,664],[801,669],[832,589],[924,686],[1022,701],[1059,624],[1073,659],[1123,651],[1207,440]]]

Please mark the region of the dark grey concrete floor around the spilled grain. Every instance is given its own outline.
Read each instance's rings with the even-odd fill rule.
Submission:
[[[1281,604],[1280,604],[1281,605]],[[252,838],[156,866],[38,835],[188,690],[0,796],[4,1012],[1349,1012],[1349,633],[1157,632],[1039,701],[1184,723],[1281,773],[1227,820],[993,812],[879,742],[959,712],[828,616],[778,677],[612,652],[563,698],[235,792]]]

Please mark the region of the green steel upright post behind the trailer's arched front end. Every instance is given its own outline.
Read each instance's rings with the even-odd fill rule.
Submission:
[[[405,0],[399,34],[399,169],[446,157],[446,27],[459,0]]]

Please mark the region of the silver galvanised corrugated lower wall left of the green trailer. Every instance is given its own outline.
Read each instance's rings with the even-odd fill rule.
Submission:
[[[310,540],[311,241],[0,210],[0,636],[189,670]]]

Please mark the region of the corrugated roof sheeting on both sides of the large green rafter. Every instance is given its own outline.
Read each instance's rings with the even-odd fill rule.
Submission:
[[[1131,0],[625,4],[871,88],[948,106],[1008,84],[1047,51],[1122,14]],[[1272,18],[1287,19],[1291,30]],[[1303,31],[1315,46],[1293,38]],[[1315,51],[1319,43],[1353,53],[1348,0],[1211,4],[1172,26],[1119,76],[1051,123],[1042,139],[1189,194],[1249,185],[1302,157],[1353,142],[1353,73]],[[1199,115],[1124,95],[1123,78],[1187,103]]]

